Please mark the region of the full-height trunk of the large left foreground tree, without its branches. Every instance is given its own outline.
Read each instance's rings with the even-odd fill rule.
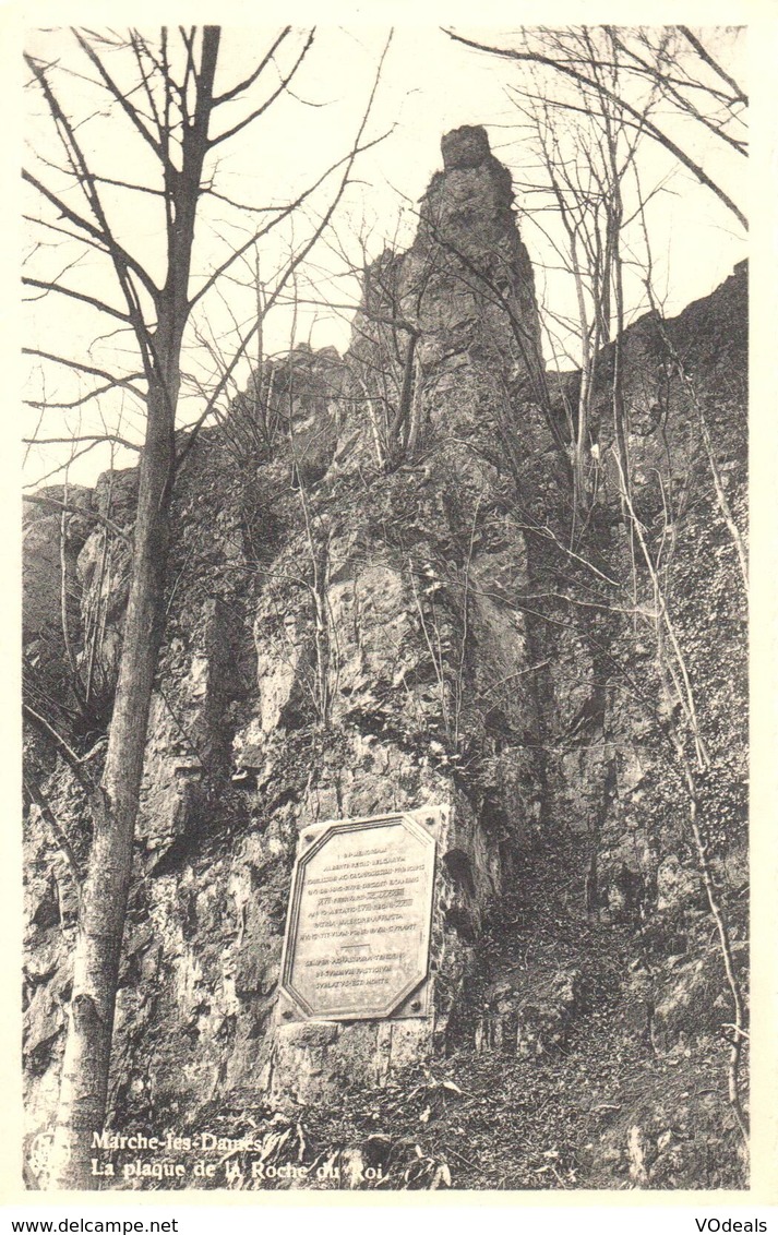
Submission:
[[[119,966],[132,876],[146,732],[164,622],[164,584],[180,350],[189,316],[189,273],[203,165],[209,149],[219,30],[203,32],[198,95],[182,133],[182,169],[167,169],[168,270],[157,329],[143,338],[148,405],[141,456],[135,553],[102,784],[82,894],[73,993],[59,1087],[49,1187],[94,1188],[94,1136],[105,1120]]]

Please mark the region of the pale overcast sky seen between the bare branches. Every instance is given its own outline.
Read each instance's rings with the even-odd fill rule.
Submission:
[[[478,28],[459,25],[458,28],[490,43],[510,41],[509,30],[499,26]],[[273,31],[261,27],[226,28],[220,61],[222,83],[238,80],[263,54],[272,35]],[[225,153],[219,163],[221,190],[251,204],[289,200],[341,158],[353,140],[387,38],[385,26],[320,27],[314,48],[300,75],[295,78],[294,96],[279,99],[266,117],[246,130],[232,144],[224,147]],[[735,75],[745,80],[745,38],[732,30],[713,30],[706,33],[706,38]],[[51,28],[44,32],[33,31],[28,35],[27,43],[36,54],[53,59],[69,46],[69,36]],[[368,131],[369,136],[388,136],[361,157],[357,165],[358,183],[349,190],[338,216],[337,245],[325,245],[317,251],[317,270],[324,279],[317,294],[324,298],[328,293],[347,301],[356,296],[353,283],[333,285],[327,282],[327,275],[342,266],[336,256],[337,248],[346,245],[349,253],[358,252],[354,245],[357,232],[368,236],[368,248],[373,254],[380,251],[387,238],[396,237],[395,242],[403,245],[411,241],[417,201],[432,173],[441,165],[440,140],[448,130],[462,124],[485,125],[496,156],[515,169],[516,179],[521,178],[526,167],[526,152],[521,135],[516,132],[516,114],[508,94],[516,74],[516,65],[469,51],[452,42],[436,26],[400,23],[395,27]],[[91,115],[89,131],[109,174],[140,180],[147,178],[142,143],[133,143],[132,138],[127,138],[125,126],[120,127],[114,117],[95,120],[94,109],[85,106],[91,101],[89,86],[70,83],[63,85],[63,90],[74,90],[69,95],[73,106],[82,106],[85,115]],[[236,119],[240,114],[238,107]],[[40,103],[31,101],[27,140],[32,147],[53,156],[56,147],[47,136],[48,132]],[[706,159],[711,157],[704,142],[695,153]],[[657,259],[657,280],[661,290],[667,291],[666,311],[674,314],[726,278],[734,264],[745,256],[745,238],[736,221],[716,199],[687,173],[673,168],[672,161],[663,152],[647,148],[645,158],[648,180],[659,180],[668,172],[673,173],[669,183],[672,191],[662,195],[652,207],[652,243]],[[716,165],[716,173],[736,200],[745,204],[742,170],[736,167],[736,161],[722,159]],[[47,174],[48,183],[54,183],[56,177]],[[330,183],[312,203],[312,215],[324,209]],[[119,195],[116,204],[120,204]],[[138,200],[136,194],[131,199],[131,209],[125,209],[121,216],[121,238],[133,252],[146,254],[152,269],[162,258],[162,231],[153,198]],[[543,273],[548,249],[535,225],[532,203],[519,194],[517,210],[522,237],[536,262],[538,293],[551,308],[566,311],[569,288],[563,278]],[[230,243],[240,242],[245,235],[241,230],[245,225],[245,217],[221,207],[204,212],[198,235],[201,272],[219,261],[225,246],[228,248]],[[299,233],[298,227],[295,235],[299,237]],[[284,238],[284,243],[287,242],[288,236]],[[63,249],[62,254],[56,256],[52,269],[57,262],[58,269],[64,268],[67,258],[68,251]],[[47,261],[51,259],[49,253]],[[263,261],[273,267],[280,261],[280,256],[273,246],[268,246]],[[89,263],[82,263],[68,277],[77,284],[79,279],[89,282],[96,277],[96,269]],[[85,287],[86,283],[78,285]],[[102,294],[109,295],[109,291]],[[310,290],[307,294],[310,295]],[[224,312],[216,303],[210,320],[215,333],[225,329]],[[37,336],[36,346],[43,347],[46,340],[51,341],[56,336],[58,346],[49,350],[64,353],[70,348],[69,354],[77,354],[90,332],[95,332],[90,311],[79,314],[78,306],[72,301],[63,306],[62,298],[51,295],[35,306],[30,326],[31,335]],[[310,338],[314,346],[335,345],[342,352],[348,345],[348,314],[342,310],[327,312],[307,306],[298,311],[296,327],[298,337]],[[266,350],[283,351],[289,346],[290,331],[290,312],[275,314],[266,331]],[[116,358],[111,354],[114,347],[115,343],[110,341],[102,345],[100,363],[107,366],[107,358]],[[241,380],[245,382],[245,378],[246,367],[241,371]],[[59,382],[57,388],[52,387],[53,380]],[[73,389],[72,377],[67,372],[59,373],[57,378],[49,372],[46,391],[41,374],[33,375],[32,398],[40,398],[43,393],[48,399],[65,398]],[[102,411],[110,419],[115,416],[116,406],[106,408],[104,401]],[[37,436],[59,436],[58,430],[52,431],[53,415],[47,414]],[[191,403],[191,410],[184,419],[193,419],[194,415],[196,404]],[[59,425],[68,431],[73,431],[77,420],[73,415],[68,417],[59,414]],[[37,422],[37,412],[27,416],[28,436],[32,436]],[[141,422],[140,409],[125,406],[122,431],[137,437]],[[85,410],[80,416],[80,431],[99,431],[94,410]],[[28,483],[38,482],[57,466],[62,461],[62,446],[33,448],[28,458]],[[70,479],[93,483],[106,462],[104,451],[86,454],[73,466]],[[117,462],[127,466],[133,462],[133,457],[123,452]],[[53,477],[52,483],[61,477]]]

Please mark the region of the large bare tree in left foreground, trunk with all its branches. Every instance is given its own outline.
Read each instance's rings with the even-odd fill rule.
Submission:
[[[49,206],[54,206],[59,216],[75,228],[74,232],[65,231],[67,236],[85,245],[89,252],[94,249],[106,257],[112,267],[126,311],[100,296],[88,294],[79,288],[63,285],[59,277],[46,280],[26,279],[26,283],[37,285],[44,293],[65,295],[68,299],[85,303],[111,320],[119,320],[125,327],[130,327],[135,333],[142,363],[142,377],[147,383],[146,394],[143,395],[141,391],[147,405],[146,441],[141,453],[130,598],[106,764],[100,787],[83,777],[83,784],[90,799],[93,841],[82,890],[59,1107],[53,1151],[42,1181],[44,1187],[86,1189],[99,1186],[99,1181],[91,1176],[90,1160],[95,1149],[95,1135],[102,1130],[109,1093],[111,1037],[125,915],[132,876],[133,834],[140,803],[154,673],[165,618],[165,557],[175,473],[193,448],[200,427],[214,411],[215,400],[224,390],[241,356],[245,354],[253,336],[261,331],[263,312],[278,300],[288,279],[330,225],[349,183],[357,156],[382,140],[375,138],[374,142],[362,144],[389,42],[387,42],[382,54],[354,144],[345,159],[338,159],[325,173],[325,177],[330,175],[336,167],[345,164],[337,191],[312,235],[290,257],[289,266],[284,275],[279,278],[273,294],[262,298],[259,321],[240,338],[240,346],[230,364],[225,366],[216,391],[206,401],[203,415],[189,432],[185,445],[177,453],[174,432],[180,388],[182,345],[186,324],[191,320],[195,305],[209,294],[220,279],[226,277],[226,272],[243,257],[252,245],[256,246],[261,237],[267,235],[279,220],[288,217],[291,211],[298,209],[325,179],[325,177],[320,177],[315,185],[306,190],[296,203],[280,211],[270,222],[259,224],[253,237],[235,249],[207,277],[200,278],[198,290],[190,295],[198,204],[203,193],[210,191],[212,188],[212,185],[206,186],[204,183],[206,157],[222,142],[235,137],[264,114],[269,104],[289,85],[312,43],[315,35],[312,30],[309,31],[304,46],[275,91],[258,106],[253,106],[248,101],[251,88],[273,61],[273,52],[283,43],[289,31],[290,27],[282,31],[270,53],[259,62],[248,78],[217,96],[214,94],[220,46],[220,30],[216,26],[204,26],[201,30],[179,27],[177,36],[173,36],[174,46],[172,46],[170,31],[163,27],[156,51],[149,48],[144,37],[137,31],[128,32],[126,43],[115,36],[109,40],[91,41],[91,36],[88,33],[73,32],[80,51],[86,56],[91,69],[96,73],[95,80],[102,91],[104,101],[107,103],[109,107],[115,107],[117,114],[123,112],[128,117],[136,133],[153,152],[157,172],[164,185],[159,190],[156,186],[157,182],[154,182],[154,188],[148,190],[159,194],[161,205],[164,207],[167,270],[163,287],[158,287],[156,277],[152,277],[142,261],[119,241],[109,217],[110,211],[106,212],[100,196],[100,185],[104,178],[95,170],[91,152],[80,144],[80,121],[74,122],[69,119],[49,82],[49,65],[33,57],[26,57],[64,149],[65,167],[64,169],[59,168],[59,170],[69,178],[68,185],[70,188],[75,184],[80,189],[86,203],[85,216],[74,210],[69,201],[49,189],[37,175],[25,172],[25,179],[40,194],[42,209],[48,210]],[[114,80],[107,63],[104,63],[95,51],[95,46],[102,46],[104,42],[111,48],[123,47],[128,57],[132,54],[138,75],[136,89],[128,91],[126,85]],[[132,72],[135,73],[136,69],[133,68]],[[143,88],[143,103],[137,105],[135,98],[141,86]],[[231,114],[230,121],[226,121],[227,127],[221,132],[209,133],[214,112],[221,106],[230,106],[237,99],[247,101],[248,112],[237,121]],[[56,165],[51,164],[49,159],[44,159],[44,162],[47,167]],[[119,185],[127,190],[146,188],[133,184],[123,185],[121,182]],[[236,209],[252,209],[242,207],[235,203],[232,205]],[[62,231],[58,224],[52,224],[44,212],[33,221],[47,230],[53,227],[57,233]],[[157,262],[154,261],[154,270],[156,268]],[[72,363],[77,372],[83,371],[107,377],[111,387],[123,385],[131,380],[112,379],[110,374],[102,374],[102,371],[95,369],[94,366],[83,366],[78,361],[70,362],[51,356],[49,359]],[[62,505],[67,508],[67,500]],[[111,526],[110,520],[105,516],[95,517],[106,527]],[[112,526],[111,530],[117,531]],[[121,531],[119,535],[122,535]],[[99,622],[96,622],[98,625]],[[31,713],[31,709],[27,711]],[[42,721],[49,736],[58,741],[61,748],[64,746],[67,751],[67,743],[58,739],[52,726],[42,718],[38,720]],[[70,763],[77,774],[79,774],[82,762],[74,752],[70,752]]]

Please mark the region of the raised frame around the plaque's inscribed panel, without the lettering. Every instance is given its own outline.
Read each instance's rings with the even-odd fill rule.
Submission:
[[[336,819],[322,824],[310,824],[303,829],[298,841],[295,856],[291,890],[289,895],[289,910],[287,914],[287,926],[284,931],[284,947],[282,952],[280,979],[279,979],[279,1011],[284,1021],[289,1020],[319,1020],[319,1021],[368,1021],[405,1019],[412,1016],[429,1015],[429,984],[430,984],[430,950],[432,942],[432,910],[435,905],[435,889],[437,879],[437,842],[440,839],[440,826],[442,821],[442,808],[426,806],[419,810],[400,810],[383,815],[369,815],[358,819]],[[317,1015],[300,995],[291,982],[291,973],[295,961],[295,942],[298,923],[300,916],[300,904],[303,899],[303,885],[305,867],[327,840],[338,832],[352,832],[373,830],[375,827],[388,827],[401,821],[405,827],[420,840],[422,845],[432,850],[432,878],[425,893],[422,905],[422,921],[425,936],[420,948],[420,962],[424,963],[424,972],[414,978],[390,1003],[387,1003],[379,1011],[358,1013],[353,1008],[347,1010],[327,1011]],[[420,965],[421,968],[421,965]],[[416,995],[416,998],[411,998]]]

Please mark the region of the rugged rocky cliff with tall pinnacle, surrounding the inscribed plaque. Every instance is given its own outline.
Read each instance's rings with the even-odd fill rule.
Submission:
[[[562,394],[551,408],[542,398],[510,175],[479,128],[448,135],[443,162],[412,247],[366,273],[351,352],[298,350],[269,367],[182,473],[111,1120],[182,1130],[207,1113],[231,1128],[231,1113],[262,1104],[263,1118],[290,1118],[343,1092],[391,1092],[409,1067],[446,1057],[509,1060],[531,1087],[532,1068],[556,1057],[563,1070],[571,1051],[585,1074],[585,1051],[608,1050],[610,1032],[638,1044],[643,1079],[674,1061],[713,1088],[674,1123],[658,1081],[631,1105],[603,1098],[578,1182],[737,1182],[720,1029],[731,1010],[673,735],[689,739],[692,697],[706,752],[696,805],[742,963],[745,603],[727,515],[742,527],[745,270],[622,341],[632,504],[652,545],[667,542],[662,626],[609,451],[609,354],[592,456],[601,474],[572,550],[554,435],[564,409]],[[91,720],[73,719],[78,704],[49,719],[70,724],[95,767],[133,483],[119,473],[79,493],[63,552],[61,514],[32,526],[26,637],[46,643],[48,677],[31,666],[31,700],[43,711],[64,697],[51,683],[72,673],[57,608],[65,562]],[[668,638],[682,661],[664,655]],[[28,747],[83,855],[78,781],[40,727]],[[427,804],[446,808],[432,1018],[283,1023],[300,830]],[[75,904],[36,806],[26,839],[33,1135],[56,1102]],[[505,1152],[520,1178],[521,1151]]]

